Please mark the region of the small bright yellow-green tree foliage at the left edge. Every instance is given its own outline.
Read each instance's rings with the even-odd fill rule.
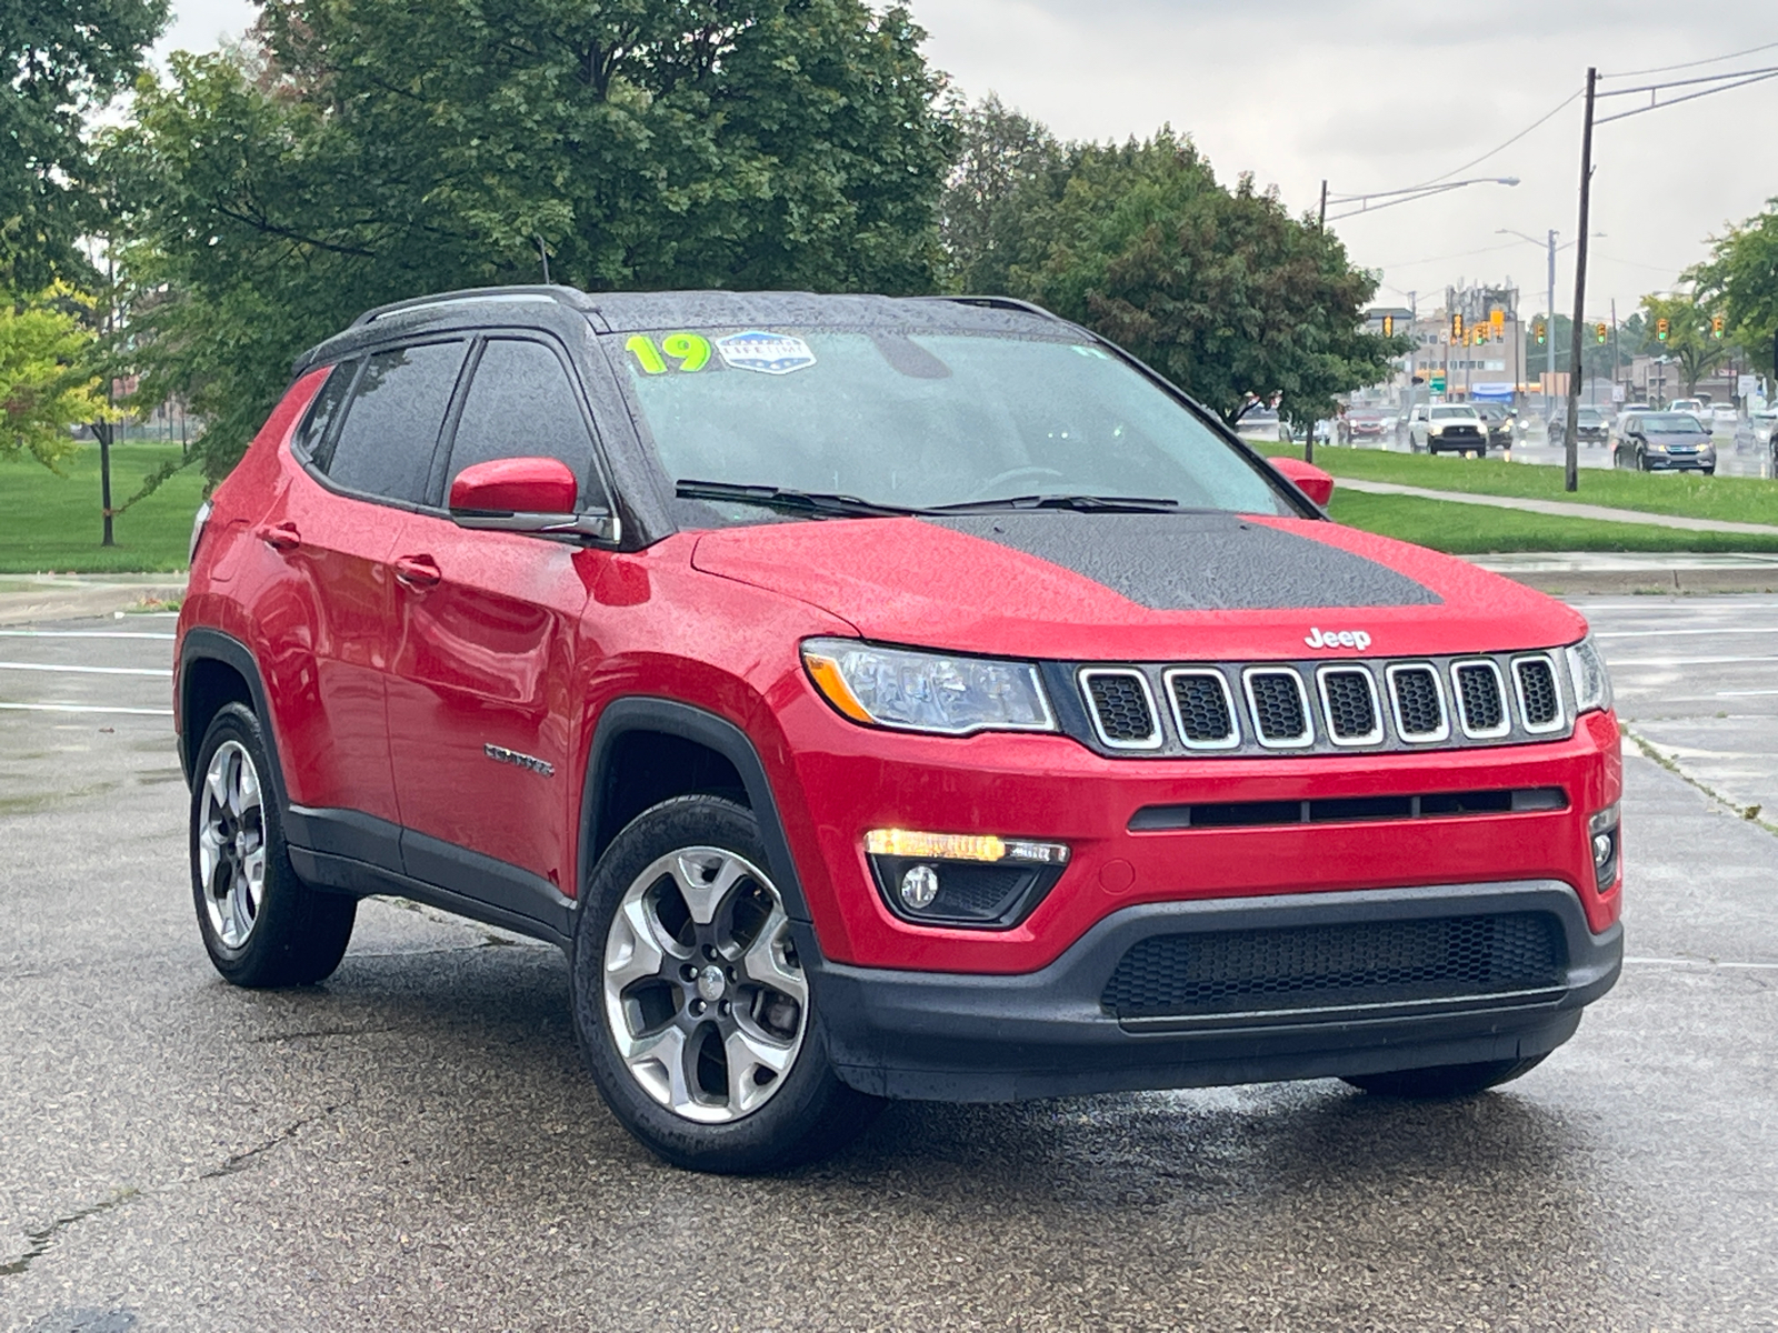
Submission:
[[[68,288],[0,299],[0,459],[30,453],[52,471],[75,448],[69,427],[110,416],[91,304]]]

